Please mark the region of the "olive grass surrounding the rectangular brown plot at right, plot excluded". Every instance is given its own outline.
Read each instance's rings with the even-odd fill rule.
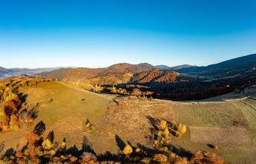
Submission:
[[[254,101],[255,104],[253,105],[256,107],[256,100]],[[190,142],[190,131],[188,131],[181,139],[173,140],[175,145],[178,144],[192,152],[198,149],[216,152],[223,156],[227,163],[255,162],[255,131],[252,130],[256,126],[253,125],[252,120],[248,120],[246,117],[246,115],[251,115],[251,111],[248,110],[248,107],[244,107],[244,102],[199,102],[199,104],[194,103],[194,105],[192,103],[178,103],[177,105],[172,105],[172,110],[175,113],[175,120],[187,126],[244,126],[251,133],[254,143],[252,146],[217,143],[220,146],[220,150],[212,150],[205,143]]]

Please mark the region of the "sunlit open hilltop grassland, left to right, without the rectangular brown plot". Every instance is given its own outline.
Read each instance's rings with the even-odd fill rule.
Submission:
[[[61,141],[63,137],[66,137],[67,146],[73,146],[73,144],[79,146],[83,135],[88,137],[92,142],[92,148],[98,153],[118,150],[115,135],[125,142],[131,141],[133,146],[136,146],[136,143],[146,145],[145,136],[150,136],[151,128],[146,116],[164,118],[169,121],[176,120],[187,127],[245,126],[251,133],[255,144],[255,118],[251,118],[248,113],[252,111],[252,107],[242,101],[199,102],[198,104],[197,102],[165,100],[137,102],[138,100],[125,98],[124,102],[127,104],[115,106],[105,113],[109,100],[73,90],[70,88],[73,87],[71,83],[65,83],[65,85],[69,87],[57,82],[40,83],[36,87],[21,88],[20,91],[28,94],[27,104],[30,107],[34,107],[36,102],[39,102],[39,115],[36,122],[44,120],[47,125],[47,132],[44,134],[47,135],[49,131],[54,131],[55,141]],[[48,102],[51,98],[53,102]],[[86,99],[86,104],[81,103],[81,98]],[[248,99],[245,102],[256,107],[256,100]],[[90,134],[84,133],[86,118],[89,118],[92,124],[94,123],[95,130]],[[0,133],[0,138],[1,141],[4,138],[5,143],[16,148],[17,141],[21,141],[24,134],[25,129],[22,128],[20,131]],[[255,145],[221,143],[218,144],[220,150],[212,150],[205,143],[192,143],[189,128],[181,139],[172,137],[172,143],[191,152],[196,150],[216,152],[223,156],[227,163],[253,163],[256,154]],[[5,148],[8,148],[7,144]]]

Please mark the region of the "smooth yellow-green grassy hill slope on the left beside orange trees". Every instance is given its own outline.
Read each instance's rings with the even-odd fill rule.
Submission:
[[[73,144],[79,146],[85,135],[86,119],[88,118],[92,123],[99,120],[109,102],[105,98],[73,90],[57,82],[39,83],[36,87],[21,87],[19,92],[27,94],[29,108],[39,102],[38,118],[31,127],[0,133],[5,149],[10,146],[16,148],[17,143],[23,145],[27,131],[31,131],[31,128],[40,120],[43,120],[47,127],[44,135],[54,131],[55,141],[60,142],[66,137],[67,146],[73,146]],[[51,98],[53,101],[49,102]],[[86,99],[86,103],[81,102],[82,98]]]

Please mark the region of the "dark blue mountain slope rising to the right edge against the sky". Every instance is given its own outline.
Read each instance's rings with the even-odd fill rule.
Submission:
[[[180,73],[200,74],[200,75],[235,75],[253,70],[256,68],[256,54],[246,55],[235,59],[222,61],[209,66],[199,66],[182,68],[177,70]]]

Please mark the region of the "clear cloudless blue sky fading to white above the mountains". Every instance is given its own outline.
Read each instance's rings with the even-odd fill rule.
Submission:
[[[0,0],[0,66],[207,66],[256,53],[255,0]]]

